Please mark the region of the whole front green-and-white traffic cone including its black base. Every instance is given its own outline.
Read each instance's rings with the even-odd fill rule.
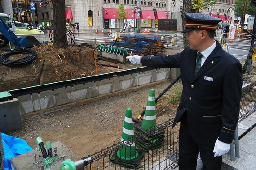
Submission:
[[[120,148],[110,157],[111,162],[128,168],[140,167],[144,151],[135,148],[135,141],[131,140],[132,136],[134,136],[132,110],[128,108],[125,113]]]

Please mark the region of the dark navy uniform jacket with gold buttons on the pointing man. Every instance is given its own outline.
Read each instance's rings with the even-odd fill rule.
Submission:
[[[190,134],[197,142],[231,143],[237,126],[242,90],[242,66],[220,43],[194,76],[197,51],[185,48],[175,55],[145,56],[143,66],[180,68],[183,91],[175,126],[187,111]],[[213,143],[214,144],[214,143]]]

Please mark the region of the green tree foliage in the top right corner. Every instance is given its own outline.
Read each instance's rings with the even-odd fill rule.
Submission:
[[[248,15],[254,15],[255,14],[255,6],[250,6],[251,0],[247,0],[246,4],[246,11],[245,14]],[[245,0],[238,0],[237,3],[235,4],[235,8],[232,8],[232,10],[235,12],[235,16],[242,17],[243,16],[243,7],[245,6]],[[239,13],[238,13],[239,12]]]

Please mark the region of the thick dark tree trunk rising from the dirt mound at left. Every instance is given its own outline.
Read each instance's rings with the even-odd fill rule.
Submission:
[[[65,0],[52,0],[53,3],[53,47],[67,48]]]

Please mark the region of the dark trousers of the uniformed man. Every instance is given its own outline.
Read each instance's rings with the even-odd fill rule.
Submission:
[[[197,143],[192,139],[187,113],[184,113],[181,118],[179,135],[179,170],[196,170],[199,151],[203,162],[203,170],[221,170],[222,156],[214,157],[214,146],[203,142]]]

